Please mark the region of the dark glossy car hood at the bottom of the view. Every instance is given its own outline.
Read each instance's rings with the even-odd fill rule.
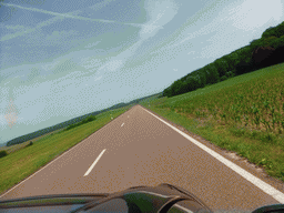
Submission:
[[[191,192],[168,183],[158,186],[134,186],[115,193],[80,193],[29,196],[0,201],[0,212],[81,212],[94,210],[104,203],[121,199],[129,210],[133,204],[141,213],[156,212],[213,212]],[[284,204],[266,205],[252,213],[284,210]],[[100,211],[103,212],[103,211]],[[108,212],[108,211],[105,211]],[[124,211],[128,212],[128,211]],[[131,212],[131,211],[129,211]]]

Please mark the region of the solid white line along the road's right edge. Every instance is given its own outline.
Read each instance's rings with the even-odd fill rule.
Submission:
[[[144,108],[142,108],[142,109],[145,110]],[[148,110],[145,110],[145,111],[149,112]],[[221,163],[224,163],[226,166],[229,166],[231,170],[235,171],[237,174],[240,174],[241,176],[243,176],[244,179],[250,181],[252,184],[260,187],[263,192],[265,192],[266,194],[270,194],[271,196],[273,196],[273,199],[275,199],[280,203],[284,204],[284,194],[281,191],[276,190],[275,187],[271,186],[270,184],[263,182],[261,179],[254,176],[250,172],[245,171],[244,169],[240,168],[239,165],[236,165],[233,162],[229,161],[227,159],[223,158],[219,153],[209,149],[206,145],[203,145],[201,142],[199,142],[195,139],[189,136],[187,134],[185,134],[184,132],[174,128],[173,125],[165,122],[164,120],[160,119],[159,116],[156,116],[152,112],[149,112],[149,113],[152,114],[153,116],[155,116],[156,119],[159,119],[160,121],[162,121],[164,124],[166,124],[170,128],[172,128],[173,130],[175,130],[176,132],[179,132],[180,134],[182,134],[185,139],[190,140],[192,143],[194,143],[195,145],[197,145],[199,148],[201,148],[202,150],[204,150],[205,152],[207,152],[212,156],[214,156]]]

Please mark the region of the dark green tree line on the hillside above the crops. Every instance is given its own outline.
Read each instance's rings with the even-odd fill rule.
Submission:
[[[266,29],[260,39],[174,81],[161,97],[174,97],[235,75],[284,62],[284,21]],[[261,59],[261,60],[256,60]]]

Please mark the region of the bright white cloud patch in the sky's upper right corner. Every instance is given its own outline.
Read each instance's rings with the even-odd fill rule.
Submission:
[[[265,0],[244,1],[240,6],[235,6],[235,3],[231,3],[224,7],[223,10],[219,12],[219,16],[214,18],[211,23],[202,27],[200,30],[196,30],[193,33],[191,28],[189,27],[186,30],[184,30],[184,32],[190,31],[189,33],[184,34],[183,38],[181,36],[180,41],[172,45],[163,48],[163,50],[175,48],[191,39],[205,36],[214,31],[221,32],[215,36],[220,39],[220,34],[227,33],[226,29],[232,27],[240,30],[248,31],[255,29],[256,27],[262,27],[264,22],[272,21],[273,19],[280,20],[281,17],[283,17],[283,3],[281,2],[281,0],[275,0],[273,4]],[[265,11],[274,12],[273,16],[271,16],[271,13],[267,13]],[[200,16],[200,12],[196,14],[196,17],[197,16]],[[195,19],[195,17],[193,19]],[[152,52],[152,54],[156,52],[159,51]]]

